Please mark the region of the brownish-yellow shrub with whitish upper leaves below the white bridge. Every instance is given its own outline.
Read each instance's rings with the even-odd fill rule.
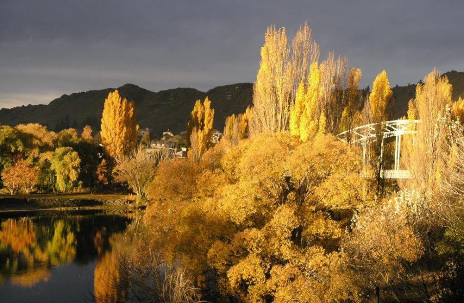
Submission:
[[[353,230],[342,247],[364,289],[380,287],[385,298],[386,294],[395,296],[397,290],[391,285],[410,287],[410,268],[425,252],[423,235],[418,232],[419,221],[427,220],[422,202],[417,193],[401,192],[353,218]]]

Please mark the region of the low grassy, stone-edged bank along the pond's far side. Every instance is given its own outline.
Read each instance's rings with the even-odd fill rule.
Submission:
[[[24,210],[67,210],[95,208],[134,208],[134,198],[115,194],[30,194],[0,195],[0,212]]]

